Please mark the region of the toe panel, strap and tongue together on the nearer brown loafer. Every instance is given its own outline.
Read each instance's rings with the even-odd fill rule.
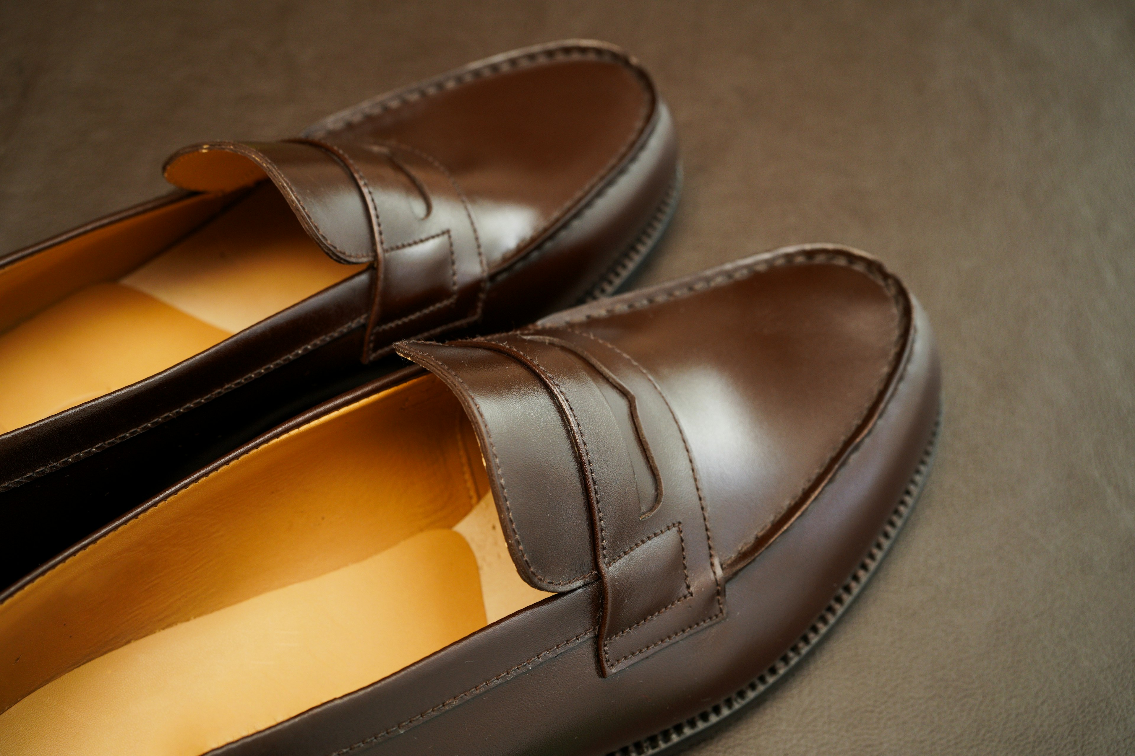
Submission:
[[[398,351],[465,405],[526,579],[602,581],[609,674],[725,617],[723,576],[791,525],[869,426],[909,313],[873,260],[798,248]]]

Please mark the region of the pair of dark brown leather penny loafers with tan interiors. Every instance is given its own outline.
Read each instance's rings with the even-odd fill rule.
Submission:
[[[922,486],[938,358],[876,260],[607,297],[679,177],[608,45],[166,173],[0,261],[6,754],[654,753],[810,648]]]

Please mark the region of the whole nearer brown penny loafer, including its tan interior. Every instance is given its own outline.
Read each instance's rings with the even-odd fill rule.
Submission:
[[[843,248],[398,350],[3,597],[0,750],[653,753],[831,627],[936,436]]]

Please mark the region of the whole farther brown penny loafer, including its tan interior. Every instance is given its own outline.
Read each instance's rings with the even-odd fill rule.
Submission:
[[[0,586],[388,372],[400,339],[611,294],[678,156],[633,60],[560,42],[301,138],[186,147],[166,177],[182,190],[0,258]]]

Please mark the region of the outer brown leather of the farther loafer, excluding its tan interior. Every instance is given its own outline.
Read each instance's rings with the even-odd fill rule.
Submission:
[[[288,414],[388,371],[397,339],[507,328],[609,290],[629,272],[625,254],[640,257],[664,226],[676,145],[633,60],[566,42],[368,101],[300,139],[187,147],[166,172],[222,196],[268,177],[333,258],[373,265],[168,371],[0,436],[0,584]],[[110,473],[124,467],[134,473]]]

